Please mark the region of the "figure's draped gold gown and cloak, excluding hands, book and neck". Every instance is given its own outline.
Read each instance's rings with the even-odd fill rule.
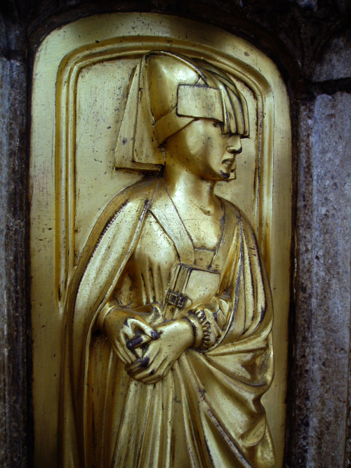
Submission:
[[[159,179],[129,187],[102,213],[67,296],[63,466],[274,466],[260,402],[273,376],[270,288],[251,225],[220,202],[212,253],[194,249]],[[178,262],[220,274],[216,312],[206,312],[211,345],[187,349],[146,385],[126,373],[96,324],[116,303],[149,323],[171,320],[163,311]]]

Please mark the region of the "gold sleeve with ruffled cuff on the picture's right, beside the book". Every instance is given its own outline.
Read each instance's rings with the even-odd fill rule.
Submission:
[[[272,328],[267,274],[253,228],[243,215],[239,232],[239,239],[233,241],[227,253],[220,293],[187,314],[196,328],[195,347],[201,351],[213,351],[219,345],[261,342]]]

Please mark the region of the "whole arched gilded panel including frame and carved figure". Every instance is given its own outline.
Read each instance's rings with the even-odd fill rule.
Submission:
[[[282,466],[291,142],[272,62],[163,15],[62,27],[36,57],[30,178],[36,466]]]

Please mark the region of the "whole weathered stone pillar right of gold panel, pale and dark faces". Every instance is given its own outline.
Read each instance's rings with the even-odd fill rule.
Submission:
[[[351,95],[300,112],[293,466],[346,465]],[[331,436],[332,434],[332,436]]]

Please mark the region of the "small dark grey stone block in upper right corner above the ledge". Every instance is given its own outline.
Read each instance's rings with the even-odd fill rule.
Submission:
[[[351,77],[351,29],[333,37],[317,62],[314,81]]]

